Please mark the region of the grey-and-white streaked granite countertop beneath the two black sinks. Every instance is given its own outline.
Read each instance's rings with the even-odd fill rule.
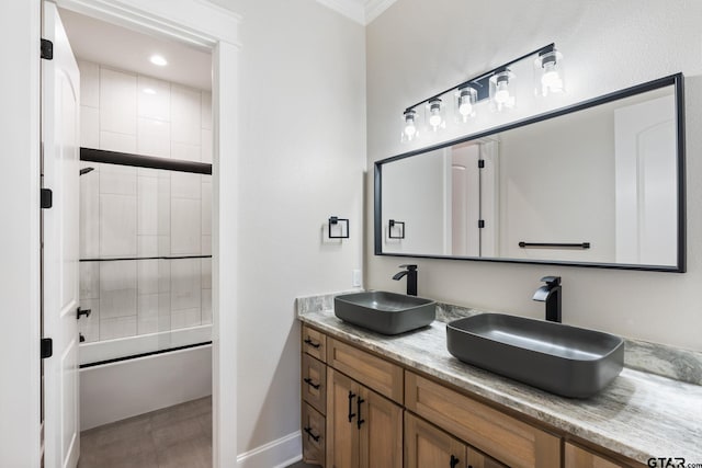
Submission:
[[[298,299],[298,319],[331,336],[643,464],[652,457],[702,464],[702,386],[625,367],[592,398],[563,398],[460,362],[446,350],[442,321],[386,336],[339,320],[328,296],[314,303],[301,307]]]

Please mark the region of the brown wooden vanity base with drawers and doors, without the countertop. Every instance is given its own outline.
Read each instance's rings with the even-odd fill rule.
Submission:
[[[305,463],[329,468],[644,467],[582,448],[568,435],[307,326],[302,350]]]

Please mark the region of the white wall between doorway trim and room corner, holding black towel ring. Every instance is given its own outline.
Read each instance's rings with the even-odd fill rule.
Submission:
[[[295,297],[348,289],[362,266],[364,30],[310,0],[217,3],[242,15],[242,157],[231,181],[242,454],[299,431]],[[322,242],[332,215],[350,219],[350,239]]]

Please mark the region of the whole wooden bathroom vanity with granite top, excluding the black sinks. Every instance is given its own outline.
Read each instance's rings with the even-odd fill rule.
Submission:
[[[698,385],[625,368],[595,397],[557,397],[452,357],[445,317],[384,336],[342,322],[329,300],[309,299],[297,306],[306,463],[609,468],[652,466],[648,459],[660,457],[702,461]]]

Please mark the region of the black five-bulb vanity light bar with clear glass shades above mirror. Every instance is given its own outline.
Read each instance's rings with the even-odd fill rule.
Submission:
[[[510,70],[510,66],[532,56],[536,56],[534,70],[539,82],[537,93],[545,96],[562,92],[564,90],[563,55],[552,43],[410,105],[403,112],[401,141],[412,141],[420,135],[417,110],[421,106],[424,106],[426,125],[433,132],[439,132],[446,126],[445,105],[450,102],[453,102],[455,121],[461,123],[469,122],[476,114],[476,105],[488,99],[495,111],[512,107],[516,95],[510,85],[516,76]]]

